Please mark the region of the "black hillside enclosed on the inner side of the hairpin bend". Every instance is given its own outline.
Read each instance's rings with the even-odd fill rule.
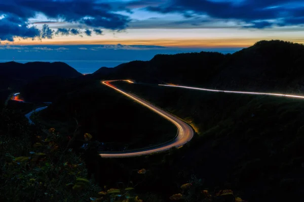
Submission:
[[[89,132],[100,142],[100,150],[153,146],[173,139],[177,131],[171,122],[100,81],[61,97],[39,113],[37,121],[62,133],[73,132],[79,124],[81,133]]]

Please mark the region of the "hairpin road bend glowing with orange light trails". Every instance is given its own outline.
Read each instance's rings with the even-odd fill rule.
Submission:
[[[172,147],[182,146],[193,138],[193,135],[194,135],[193,130],[188,124],[186,124],[185,122],[181,121],[180,119],[170,115],[169,113],[147,103],[145,100],[143,100],[135,95],[131,95],[131,94],[117,88],[116,86],[110,84],[110,82],[114,82],[114,81],[118,81],[118,80],[101,81],[101,83],[112,89],[115,89],[116,91],[122,93],[123,95],[129,97],[130,99],[133,99],[138,104],[148,108],[149,110],[159,114],[160,116],[164,117],[165,119],[167,119],[168,121],[173,123],[177,127],[177,137],[171,142],[168,142],[168,143],[165,143],[165,144],[153,147],[153,148],[139,149],[136,151],[122,151],[119,153],[118,152],[104,152],[104,153],[99,154],[101,157],[105,157],[105,158],[136,157],[136,156],[158,153],[161,151],[169,150]],[[130,80],[124,80],[124,81],[133,83]]]

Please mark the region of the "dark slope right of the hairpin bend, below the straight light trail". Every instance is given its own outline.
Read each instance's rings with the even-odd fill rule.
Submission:
[[[272,194],[277,191],[280,198],[291,193],[300,197],[301,99],[118,85],[183,118],[198,131],[182,158],[172,162],[179,172],[192,171],[211,187],[229,184],[250,201],[255,201],[256,194],[275,200]]]

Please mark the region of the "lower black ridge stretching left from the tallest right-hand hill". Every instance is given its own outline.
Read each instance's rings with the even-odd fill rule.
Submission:
[[[99,69],[95,78],[132,78],[142,82],[205,83],[226,56],[220,53],[156,55],[150,61],[132,61],[108,70]]]

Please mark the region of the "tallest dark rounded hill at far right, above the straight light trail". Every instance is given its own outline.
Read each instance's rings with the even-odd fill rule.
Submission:
[[[298,92],[304,88],[304,45],[259,41],[228,57],[209,86]]]

